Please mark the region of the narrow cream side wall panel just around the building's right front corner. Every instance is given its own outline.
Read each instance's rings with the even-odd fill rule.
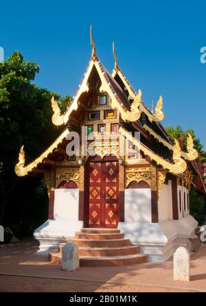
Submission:
[[[172,182],[163,184],[158,200],[159,222],[172,220]]]

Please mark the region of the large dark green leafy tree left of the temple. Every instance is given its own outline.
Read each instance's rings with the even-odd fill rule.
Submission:
[[[32,178],[24,178],[24,183],[19,183],[22,179],[14,173],[21,145],[25,145],[28,163],[58,136],[51,120],[51,98],[54,95],[55,99],[60,99],[60,95],[32,82],[38,72],[38,65],[23,60],[19,51],[0,62],[0,224],[7,205],[11,205],[14,199],[22,205],[23,190],[19,193],[17,187],[25,189],[30,182],[28,188],[32,188]],[[62,101],[66,103],[66,99],[68,101],[69,97]],[[44,189],[41,180],[35,187],[41,191]],[[22,198],[15,198],[15,192]]]

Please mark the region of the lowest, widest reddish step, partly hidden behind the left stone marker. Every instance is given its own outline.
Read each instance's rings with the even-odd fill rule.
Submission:
[[[80,257],[80,267],[109,267],[109,266],[128,266],[147,261],[148,255],[126,255],[113,257]],[[60,264],[62,256],[60,253],[50,253],[51,263]]]

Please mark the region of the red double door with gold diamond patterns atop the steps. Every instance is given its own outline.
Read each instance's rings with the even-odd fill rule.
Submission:
[[[119,222],[119,164],[89,163],[89,227],[115,228]]]

